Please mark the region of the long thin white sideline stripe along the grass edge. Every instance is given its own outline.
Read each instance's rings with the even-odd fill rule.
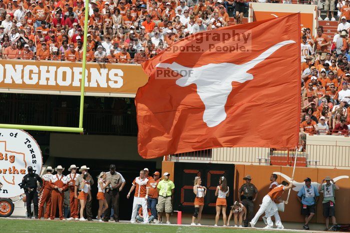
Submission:
[[[0,219],[20,219],[20,220],[39,220],[39,219],[28,219],[28,218],[25,218],[25,217],[4,217],[4,218],[0,218]],[[41,218],[42,221],[45,221],[45,219]],[[58,221],[59,218],[55,218],[53,220],[47,220],[47,221]],[[75,220],[59,220],[59,221],[64,221],[64,222],[71,222],[71,221],[74,221]],[[76,222],[78,222],[79,220],[76,220]],[[85,222],[91,222],[91,221],[85,221]],[[96,219],[93,219],[92,222],[96,222],[96,223],[106,223],[106,222],[100,222],[100,221],[97,221]],[[108,223],[116,223],[114,222],[113,220],[110,220]],[[128,223],[128,224],[140,224],[140,225],[143,225],[143,223],[131,223],[129,220],[119,220],[118,223]],[[116,223],[117,224],[117,223]],[[212,227],[212,228],[228,228],[228,229],[249,229],[249,230],[256,230],[256,231],[286,231],[286,232],[314,232],[314,233],[324,233],[325,231],[323,230],[300,230],[300,229],[277,229],[277,228],[271,228],[271,229],[263,229],[263,228],[259,228],[259,227],[255,227],[255,228],[252,228],[252,227],[233,227],[233,226],[228,226],[228,227],[225,227],[225,226],[213,226],[213,225],[195,225],[195,226],[191,226],[190,224],[166,224],[166,223],[148,223],[148,224],[144,224],[144,225],[171,225],[171,226],[187,226],[187,227]]]

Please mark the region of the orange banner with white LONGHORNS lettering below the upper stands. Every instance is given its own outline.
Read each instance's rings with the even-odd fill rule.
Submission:
[[[0,88],[1,92],[20,89],[22,92],[80,94],[81,70],[80,62],[0,60]],[[135,64],[87,62],[86,74],[87,95],[132,96],[147,81],[142,67]]]

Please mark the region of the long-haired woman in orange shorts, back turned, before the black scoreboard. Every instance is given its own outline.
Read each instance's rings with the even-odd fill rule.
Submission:
[[[229,187],[227,187],[227,180],[224,176],[221,176],[219,179],[219,185],[216,187],[215,196],[216,199],[216,216],[215,216],[215,225],[217,226],[218,219],[220,217],[220,210],[222,210],[222,219],[223,226],[226,226],[226,196],[229,195]]]

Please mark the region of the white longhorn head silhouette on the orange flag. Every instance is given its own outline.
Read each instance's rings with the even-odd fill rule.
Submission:
[[[253,75],[247,72],[249,69],[266,59],[278,48],[290,43],[295,43],[295,41],[284,40],[276,43],[255,59],[244,64],[209,63],[190,68],[172,62],[171,64],[158,63],[155,67],[170,68],[179,74],[186,73],[176,80],[176,84],[182,87],[192,83],[196,84],[197,94],[205,106],[203,121],[208,127],[214,127],[226,118],[225,104],[232,91],[232,81],[243,83],[253,79]]]

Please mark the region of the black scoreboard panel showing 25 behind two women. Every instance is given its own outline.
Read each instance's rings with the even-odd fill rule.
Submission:
[[[173,209],[183,212],[193,212],[193,201],[195,197],[193,193],[193,181],[195,176],[200,176],[201,184],[207,188],[204,197],[203,213],[216,212],[215,190],[221,176],[225,176],[227,179],[230,193],[226,199],[227,205],[230,206],[233,203],[233,175],[234,164],[175,162],[173,177],[175,184]]]

